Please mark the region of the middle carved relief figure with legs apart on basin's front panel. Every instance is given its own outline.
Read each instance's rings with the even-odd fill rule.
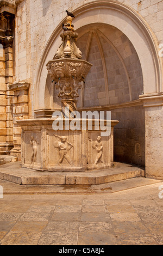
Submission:
[[[58,137],[60,139],[60,142],[55,142],[54,143],[54,148],[59,149],[59,160],[58,160],[58,165],[62,163],[64,159],[67,160],[67,162],[72,166],[71,161],[67,159],[67,152],[73,147],[73,145],[70,142],[67,142],[67,137],[66,136],[58,136],[54,135],[55,137]]]

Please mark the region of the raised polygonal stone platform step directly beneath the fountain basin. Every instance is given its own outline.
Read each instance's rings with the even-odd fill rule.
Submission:
[[[21,185],[99,185],[144,177],[143,167],[114,162],[114,167],[91,172],[40,172],[21,167],[21,162],[4,164],[0,179]]]

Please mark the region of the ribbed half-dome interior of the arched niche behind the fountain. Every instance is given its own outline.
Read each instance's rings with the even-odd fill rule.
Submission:
[[[92,23],[76,32],[83,59],[93,65],[80,90],[77,106],[107,106],[139,99],[143,91],[142,69],[127,36],[104,23]],[[60,108],[57,95],[52,79],[47,76],[46,108]]]

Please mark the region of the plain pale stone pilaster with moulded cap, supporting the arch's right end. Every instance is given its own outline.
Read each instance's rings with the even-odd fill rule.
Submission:
[[[145,108],[146,178],[163,180],[163,93],[139,96]]]

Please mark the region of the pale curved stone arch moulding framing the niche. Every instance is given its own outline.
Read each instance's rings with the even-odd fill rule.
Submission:
[[[139,56],[145,94],[162,92],[162,60],[158,42],[147,22],[135,10],[124,4],[110,1],[94,1],[73,10],[76,30],[91,23],[104,23],[122,31],[131,41]],[[46,64],[61,44],[61,24],[49,38],[42,53],[35,77],[34,111],[45,108]]]

